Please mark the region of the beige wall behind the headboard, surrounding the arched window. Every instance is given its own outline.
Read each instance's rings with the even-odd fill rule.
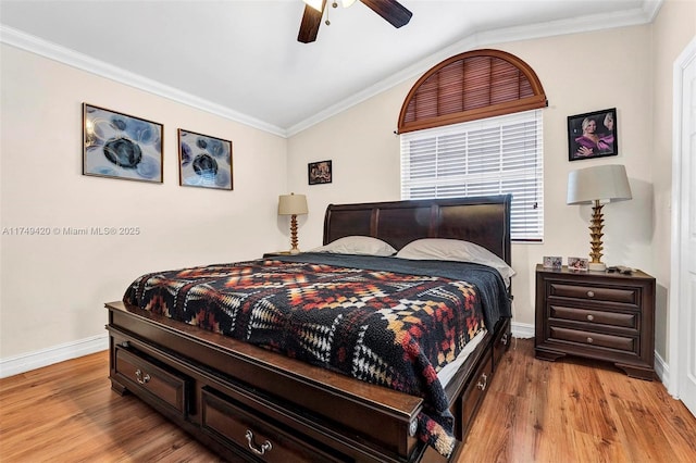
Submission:
[[[673,15],[679,17],[668,23],[686,21],[680,13]],[[664,248],[657,242],[656,215],[664,211],[662,204],[656,204],[654,176],[669,167],[657,165],[652,150],[654,35],[654,27],[644,25],[490,46],[526,61],[549,101],[544,110],[545,240],[513,245],[512,249],[518,324],[531,328],[534,323],[536,263],[544,255],[589,252],[591,209],[566,204],[568,173],[575,168],[608,163],[626,166],[633,200],[605,208],[604,261],[642,268],[656,275],[662,286],[669,279],[661,270],[664,265],[669,270],[669,264],[656,262],[656,248]],[[306,249],[321,243],[322,212],[327,203],[399,198],[399,141],[394,129],[403,98],[418,77],[289,140],[288,186],[307,192],[311,208],[300,228]],[[569,162],[567,117],[607,108],[617,108],[619,155]],[[308,187],[307,162],[324,159],[333,160],[333,184]],[[662,164],[666,161],[669,155]],[[669,235],[669,230],[661,233]],[[669,254],[669,247],[666,252]],[[663,353],[664,339],[658,339],[658,351]]]

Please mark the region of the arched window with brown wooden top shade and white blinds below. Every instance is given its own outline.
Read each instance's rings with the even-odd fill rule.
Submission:
[[[401,198],[512,193],[515,241],[543,239],[543,121],[534,71],[499,50],[426,72],[399,114]]]

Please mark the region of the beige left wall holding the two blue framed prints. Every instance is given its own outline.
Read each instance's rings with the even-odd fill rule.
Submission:
[[[285,245],[287,140],[2,45],[0,227],[139,227],[138,236],[0,235],[0,359],[104,335],[140,273]],[[82,175],[82,103],[164,124],[164,184]],[[176,129],[233,141],[234,191],[178,186]],[[283,230],[287,224],[282,224]]]

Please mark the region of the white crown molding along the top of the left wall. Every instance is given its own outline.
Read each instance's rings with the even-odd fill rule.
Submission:
[[[209,112],[216,116],[238,122],[273,135],[286,138],[284,128],[260,121],[246,114],[236,112],[229,108],[213,103],[202,98],[181,91],[174,87],[163,85],[157,80],[142,77],[136,73],[125,71],[121,67],[96,60],[74,50],[57,46],[55,43],[42,40],[38,37],[23,33],[21,30],[0,24],[0,42],[29,51],[32,53],[58,61],[59,63],[76,67],[100,77],[127,85],[142,91],[147,91],[158,97],[166,98],[181,104],[186,104],[201,111]]]

